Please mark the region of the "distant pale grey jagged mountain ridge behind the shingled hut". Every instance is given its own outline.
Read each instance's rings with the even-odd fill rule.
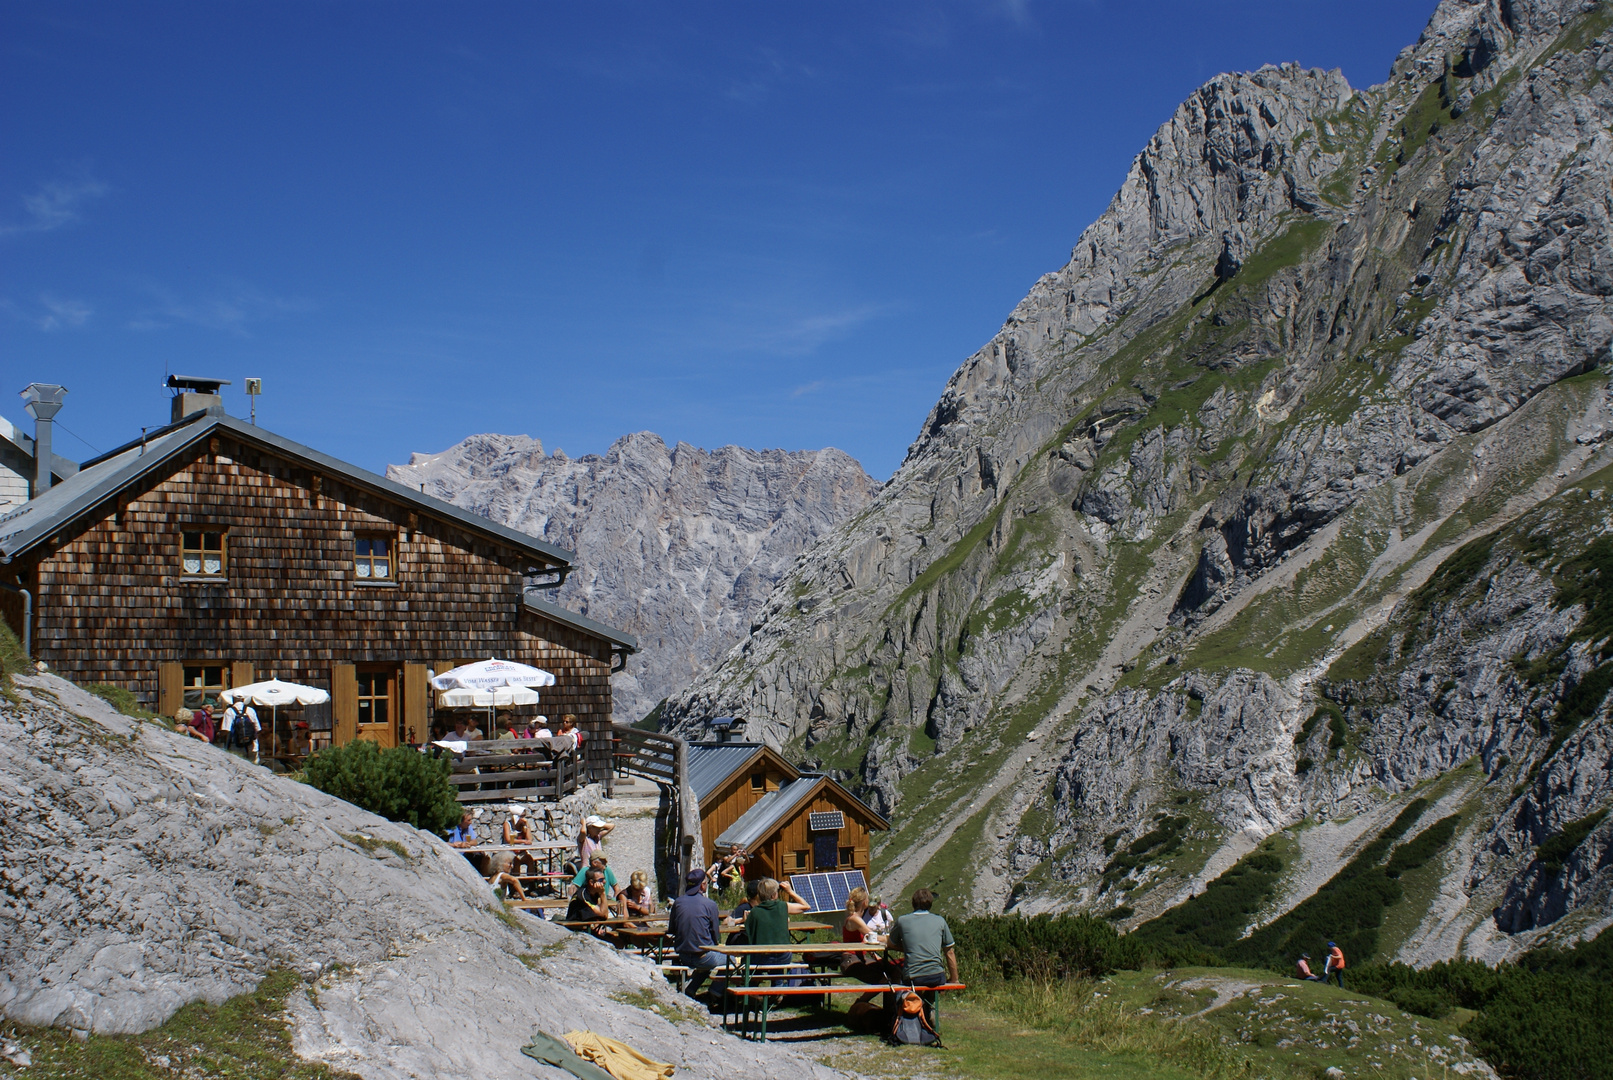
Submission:
[[[668,448],[650,432],[582,458],[471,435],[387,476],[577,553],[560,603],[639,640],[611,680],[623,722],[727,653],[795,558],[879,490],[839,450]]]

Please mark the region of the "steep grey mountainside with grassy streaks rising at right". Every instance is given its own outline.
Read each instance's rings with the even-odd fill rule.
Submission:
[[[1613,461],[1610,26],[1607,3],[1445,0],[1382,85],[1208,82],[666,722],[748,716],[894,812],[886,888],[981,909],[1140,919],[1252,837],[1444,783],[1490,854],[1450,856],[1437,945],[1407,956],[1605,922],[1602,833],[1555,870],[1571,887],[1518,877],[1610,798],[1600,698],[1566,738],[1513,717],[1507,650],[1584,617],[1555,579],[1505,579],[1482,635],[1450,613],[1415,654],[1348,650]],[[1568,558],[1589,521],[1539,543]],[[1590,693],[1574,671],[1532,716]],[[1363,679],[1463,690],[1432,717],[1405,688],[1348,698]],[[1116,880],[1108,853],[1160,814],[1190,819],[1184,854]]]

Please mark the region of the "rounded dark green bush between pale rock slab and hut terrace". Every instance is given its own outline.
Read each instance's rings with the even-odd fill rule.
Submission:
[[[408,746],[381,750],[368,738],[356,738],[321,750],[308,759],[303,774],[326,795],[426,832],[440,833],[460,820],[447,758],[431,758]]]

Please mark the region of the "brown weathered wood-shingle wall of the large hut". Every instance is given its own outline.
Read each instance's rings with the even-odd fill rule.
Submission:
[[[185,527],[226,530],[221,580],[179,572]],[[355,575],[358,534],[397,538],[392,582]],[[195,656],[313,685],[334,664],[440,672],[442,656],[500,656],[555,674],[539,708],[556,721],[577,716],[594,737],[584,743],[589,766],[602,774],[610,643],[527,611],[529,564],[456,522],[219,435],[216,451],[198,443],[169,459],[18,569],[35,595],[34,653],[68,679],[110,682],[156,703],[160,664]]]

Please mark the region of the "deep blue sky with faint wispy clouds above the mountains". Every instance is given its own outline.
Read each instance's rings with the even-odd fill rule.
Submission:
[[[66,385],[85,458],[258,376],[371,469],[650,429],[882,479],[1194,87],[1371,85],[1431,10],[8,0],[0,414]]]

